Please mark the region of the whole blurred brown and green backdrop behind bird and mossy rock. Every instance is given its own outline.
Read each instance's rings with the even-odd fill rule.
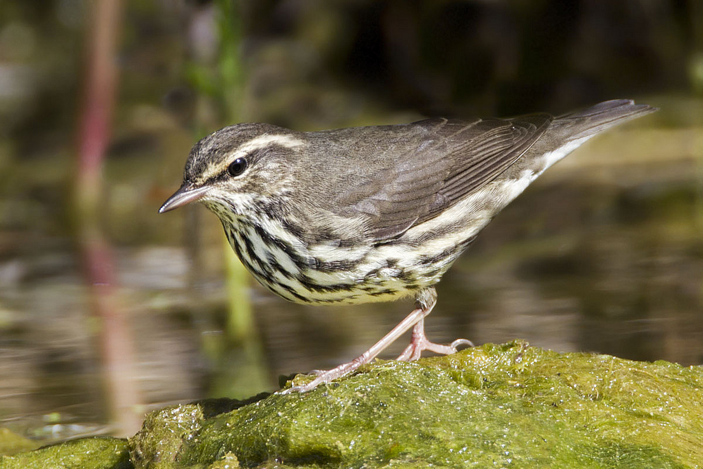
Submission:
[[[2,1],[0,428],[30,446],[131,435],[150,409],[352,359],[411,310],[284,302],[204,207],[157,214],[214,129],[612,98],[661,110],[499,215],[439,284],[426,330],[700,364],[702,2]]]

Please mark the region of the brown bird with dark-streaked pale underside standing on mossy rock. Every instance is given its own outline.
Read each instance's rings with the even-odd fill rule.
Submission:
[[[619,99],[559,117],[435,117],[323,131],[234,124],[193,146],[183,183],[159,212],[204,204],[252,276],[285,300],[414,298],[415,309],[361,356],[283,390],[307,392],[369,363],[411,329],[399,360],[471,346],[427,339],[434,285],[548,167],[596,134],[655,110]]]

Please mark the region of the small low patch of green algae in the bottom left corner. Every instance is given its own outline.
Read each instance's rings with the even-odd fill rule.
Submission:
[[[131,469],[127,440],[91,437],[1,456],[0,469]]]

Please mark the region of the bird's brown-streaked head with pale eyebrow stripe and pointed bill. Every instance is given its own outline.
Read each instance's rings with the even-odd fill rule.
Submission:
[[[219,129],[193,146],[183,184],[159,212],[200,201],[220,218],[247,214],[290,190],[304,145],[300,134],[270,124]]]

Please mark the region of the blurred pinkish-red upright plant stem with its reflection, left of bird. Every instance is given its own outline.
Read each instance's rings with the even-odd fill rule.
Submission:
[[[117,435],[131,435],[141,424],[133,341],[129,321],[116,301],[112,250],[100,226],[102,167],[117,89],[115,58],[122,2],[99,0],[92,5],[88,66],[78,129],[78,236],[91,289],[93,314],[98,319],[110,419]]]

